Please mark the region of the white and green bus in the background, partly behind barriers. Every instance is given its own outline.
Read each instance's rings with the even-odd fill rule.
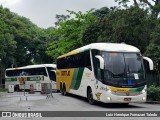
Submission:
[[[8,89],[9,85],[14,85],[15,90],[19,91],[30,89],[30,85],[33,85],[34,91],[41,91],[43,83],[51,83],[52,89],[56,89],[55,70],[56,64],[8,68],[5,72],[5,88]]]

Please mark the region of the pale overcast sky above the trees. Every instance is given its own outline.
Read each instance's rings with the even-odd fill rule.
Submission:
[[[53,27],[55,16],[68,14],[66,10],[86,12],[91,8],[116,6],[114,0],[0,0],[11,12],[29,18],[41,28]]]

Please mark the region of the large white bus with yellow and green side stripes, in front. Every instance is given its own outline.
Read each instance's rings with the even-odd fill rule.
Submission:
[[[92,43],[57,58],[56,85],[62,95],[86,97],[90,104],[145,102],[143,60],[153,61],[125,43]]]

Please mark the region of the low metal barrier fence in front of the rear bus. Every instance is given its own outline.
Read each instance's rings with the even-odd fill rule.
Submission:
[[[13,102],[13,101],[28,101],[28,100],[35,100],[39,99],[39,97],[42,99],[48,99],[50,97],[53,97],[52,95],[52,89],[51,84],[49,83],[42,83],[42,90],[39,92],[35,92],[33,86],[31,85],[30,90],[19,90],[16,91],[16,85],[10,85],[12,86],[12,90],[9,90],[9,86],[6,85],[0,85],[0,102]],[[6,103],[7,104],[7,103]]]

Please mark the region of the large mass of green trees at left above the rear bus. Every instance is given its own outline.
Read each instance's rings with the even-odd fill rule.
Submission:
[[[0,58],[7,68],[51,62],[45,53],[49,36],[47,30],[0,6]]]

